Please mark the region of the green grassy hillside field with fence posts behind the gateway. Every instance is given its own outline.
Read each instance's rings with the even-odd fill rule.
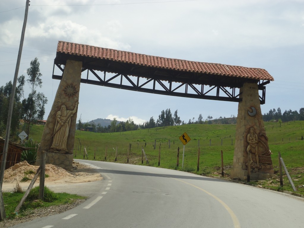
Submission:
[[[278,152],[284,159],[289,174],[295,179],[294,184],[298,193],[304,193],[304,121],[282,123],[264,123],[268,136],[269,148],[272,152],[272,162],[275,173],[278,172]],[[31,138],[40,141],[43,126],[33,126]],[[184,167],[182,168],[183,144],[179,137],[186,132],[191,140],[185,146]],[[233,163],[234,140],[236,125],[233,124],[190,124],[181,126],[158,127],[128,132],[93,133],[76,131],[74,157],[84,159],[84,148],[88,158],[96,161],[115,162],[116,148],[117,161],[127,163],[127,153],[131,143],[129,155],[130,164],[142,164],[141,148],[147,155],[149,164],[145,158],[143,165],[158,167],[159,148],[161,150],[160,166],[193,172],[202,175],[219,175],[221,167],[221,150],[225,175],[229,177]],[[156,140],[156,149],[154,142]],[[170,148],[169,148],[170,140]],[[81,143],[81,144],[80,144]],[[179,150],[179,166],[177,167],[177,154]],[[199,171],[197,171],[198,148],[200,147]],[[80,150],[81,149],[81,150]],[[107,151],[105,159],[105,151]],[[284,190],[292,191],[292,188],[284,177]],[[298,180],[298,181],[296,181]],[[263,186],[280,188],[278,181],[273,183],[259,182]],[[282,189],[282,188],[281,188]]]

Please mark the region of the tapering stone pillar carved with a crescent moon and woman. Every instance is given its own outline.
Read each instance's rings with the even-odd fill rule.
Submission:
[[[244,83],[240,88],[237,129],[231,179],[247,180],[248,156],[250,157],[250,180],[271,177],[273,166],[264,122],[261,114],[258,85]]]

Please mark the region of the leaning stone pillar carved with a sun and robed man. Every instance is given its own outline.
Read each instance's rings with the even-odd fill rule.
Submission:
[[[67,60],[52,110],[44,126],[37,165],[40,165],[40,151],[43,150],[47,152],[47,164],[64,169],[72,168],[81,68],[82,62]]]

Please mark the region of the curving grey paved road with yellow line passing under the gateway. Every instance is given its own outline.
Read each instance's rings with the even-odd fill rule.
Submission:
[[[77,161],[94,165],[104,179],[51,189],[90,199],[13,227],[304,227],[304,201],[298,197],[175,170]]]

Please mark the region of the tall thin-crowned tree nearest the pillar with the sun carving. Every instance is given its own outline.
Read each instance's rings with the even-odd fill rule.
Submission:
[[[24,85],[25,77],[21,75],[18,78],[19,88],[22,91],[22,108],[24,111],[23,119],[25,121],[25,132],[29,136],[30,126],[36,122],[38,119],[43,119],[45,109],[44,105],[47,103],[47,98],[43,93],[37,92],[36,88],[42,87],[42,74],[40,73],[40,63],[38,59],[35,58],[31,61],[30,67],[27,69],[26,73],[29,78],[26,80],[31,88],[28,98],[24,97]]]

